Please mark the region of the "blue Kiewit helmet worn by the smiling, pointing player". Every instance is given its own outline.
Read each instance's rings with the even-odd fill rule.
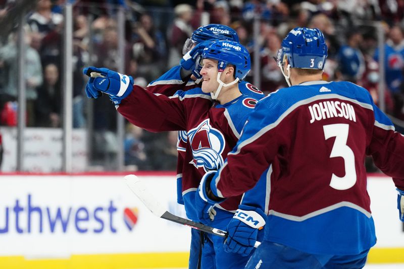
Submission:
[[[237,81],[243,80],[251,69],[251,59],[247,49],[235,41],[213,41],[204,48],[201,58],[217,60],[219,72],[223,72],[227,64],[233,64],[234,77]]]

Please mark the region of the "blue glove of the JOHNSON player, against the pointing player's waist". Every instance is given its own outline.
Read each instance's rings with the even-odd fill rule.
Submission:
[[[198,191],[195,194],[195,208],[197,221],[203,224],[209,224],[215,219],[215,204],[220,203],[224,199],[212,200],[208,196],[208,187],[216,171],[209,171],[200,180]]]

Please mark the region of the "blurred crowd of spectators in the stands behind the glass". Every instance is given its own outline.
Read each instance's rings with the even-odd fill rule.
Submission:
[[[17,0],[0,0],[0,21]],[[26,98],[28,127],[61,127],[63,61],[63,0],[39,0],[26,18]],[[282,38],[293,27],[319,28],[329,49],[323,79],[347,80],[369,90],[378,104],[379,66],[384,66],[385,110],[404,120],[404,1],[403,0],[77,0],[73,9],[73,127],[91,120],[91,165],[105,164],[117,149],[117,117],[109,98],[88,100],[84,66],[118,70],[117,8],[125,9],[125,66],[135,84],[147,84],[177,65],[182,46],[206,16],[237,31],[252,64],[260,61],[260,85],[270,93],[286,86],[273,59]],[[259,35],[254,22],[259,18]],[[379,58],[375,22],[383,25],[384,58]],[[0,124],[16,125],[17,34],[0,43]],[[259,48],[257,50],[257,48]],[[257,54],[259,55],[257,57]],[[252,81],[251,71],[247,81]],[[86,109],[92,102],[91,111]],[[89,117],[89,113],[97,115]],[[404,130],[400,124],[397,130]],[[125,165],[133,170],[175,170],[177,132],[150,133],[126,124]],[[372,162],[368,171],[376,171]],[[108,167],[104,165],[104,169]]]

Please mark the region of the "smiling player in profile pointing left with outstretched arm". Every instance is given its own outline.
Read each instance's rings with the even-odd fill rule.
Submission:
[[[261,213],[262,221],[258,225],[265,224],[265,188],[229,198],[214,210],[205,201],[195,204],[201,177],[221,167],[240,137],[249,112],[255,107],[257,100],[239,90],[238,82],[249,70],[250,57],[242,45],[234,41],[214,41],[201,53],[201,88],[178,91],[172,97],[152,94],[133,85],[131,77],[105,68],[86,68],[84,74],[91,76],[87,95],[97,98],[98,92],[109,94],[118,112],[131,123],[150,131],[187,132],[181,184],[187,217],[196,220],[196,212],[203,210],[202,222],[225,229],[238,209],[241,197],[242,207]],[[256,197],[263,198],[257,200]],[[244,267],[251,247],[234,244],[226,249],[230,251],[228,253],[223,247],[223,238],[207,236],[201,253],[201,268]]]

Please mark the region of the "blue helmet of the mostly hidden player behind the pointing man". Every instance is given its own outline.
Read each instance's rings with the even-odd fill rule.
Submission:
[[[208,24],[200,26],[193,31],[191,38],[185,41],[182,53],[186,54],[194,44],[207,40],[231,40],[239,42],[237,32],[233,28],[222,24]]]

